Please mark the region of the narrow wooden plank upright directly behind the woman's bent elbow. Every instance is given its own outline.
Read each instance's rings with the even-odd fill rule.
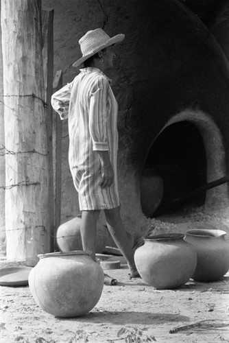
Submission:
[[[53,80],[53,93],[62,87],[62,71],[56,72]],[[60,226],[61,215],[61,176],[62,176],[62,122],[59,115],[53,111],[53,171],[54,171],[54,195],[55,195],[55,223],[54,223],[54,250],[56,245],[56,230]]]

